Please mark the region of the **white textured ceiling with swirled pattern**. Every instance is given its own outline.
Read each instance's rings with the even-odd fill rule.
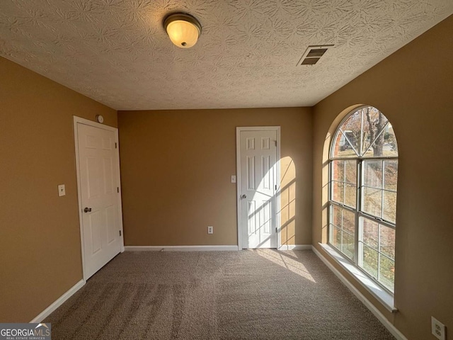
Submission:
[[[188,50],[162,27],[176,11],[202,24]],[[0,55],[117,110],[312,106],[452,13],[452,0],[0,0]]]

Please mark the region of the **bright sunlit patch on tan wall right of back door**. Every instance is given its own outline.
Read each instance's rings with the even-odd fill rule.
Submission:
[[[280,237],[282,246],[296,242],[296,166],[291,157],[280,159]]]

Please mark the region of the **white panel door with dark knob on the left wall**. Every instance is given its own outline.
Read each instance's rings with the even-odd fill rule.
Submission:
[[[80,118],[79,118],[80,119]],[[116,129],[76,123],[84,278],[122,251]]]

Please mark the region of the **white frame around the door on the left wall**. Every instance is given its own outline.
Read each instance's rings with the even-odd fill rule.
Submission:
[[[82,268],[84,271],[84,281],[88,280],[86,277],[86,265],[85,265],[85,251],[84,251],[84,221],[83,221],[83,216],[82,216],[82,195],[81,195],[81,183],[80,183],[80,164],[79,164],[79,135],[77,133],[77,124],[84,124],[84,125],[89,125],[92,126],[93,128],[100,128],[103,130],[108,130],[108,131],[113,131],[115,132],[115,142],[117,143],[117,157],[118,157],[118,166],[117,166],[117,174],[118,174],[118,182],[117,182],[117,187],[120,188],[120,194],[118,195],[117,198],[117,203],[118,203],[118,219],[120,220],[120,230],[121,230],[121,252],[125,251],[125,240],[124,240],[124,232],[122,230],[122,206],[121,206],[121,176],[120,176],[120,144],[118,142],[118,129],[113,128],[108,125],[103,125],[97,122],[93,122],[92,120],[88,120],[85,118],[80,118],[77,117],[76,115],[74,117],[74,142],[76,143],[76,174],[77,174],[77,197],[79,198],[79,225],[80,225],[80,241],[81,241],[81,251],[82,251]]]

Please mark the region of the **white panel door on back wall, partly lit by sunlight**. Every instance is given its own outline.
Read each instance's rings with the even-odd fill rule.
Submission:
[[[277,132],[239,133],[240,248],[277,248]]]

